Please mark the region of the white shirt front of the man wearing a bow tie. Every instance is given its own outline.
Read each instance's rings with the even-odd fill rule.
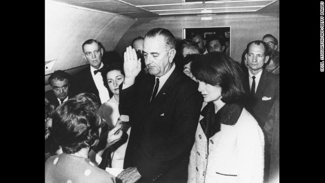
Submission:
[[[102,63],[101,67],[99,69],[101,69],[103,66],[104,66],[104,64]],[[90,66],[90,72],[91,72],[92,79],[94,80],[96,88],[98,89],[101,103],[104,104],[106,101],[108,101],[110,99],[110,95],[108,93],[108,89],[104,86],[102,74],[100,72],[98,72],[95,75],[93,73],[93,71],[95,71],[95,70],[97,70],[97,69]]]

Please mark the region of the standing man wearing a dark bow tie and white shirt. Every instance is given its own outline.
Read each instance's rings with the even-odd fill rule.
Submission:
[[[101,75],[101,68],[104,66],[102,63],[104,49],[100,42],[89,39],[82,44],[82,51],[89,66],[74,76],[74,95],[92,93],[99,97],[103,104],[110,99]]]

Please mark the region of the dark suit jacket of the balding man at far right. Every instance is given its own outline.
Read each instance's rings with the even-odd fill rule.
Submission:
[[[245,89],[247,93],[250,93],[248,77],[245,77]],[[271,99],[263,100],[263,97]],[[279,75],[272,74],[263,69],[255,95],[249,98],[246,106],[262,129],[276,100],[279,100]]]

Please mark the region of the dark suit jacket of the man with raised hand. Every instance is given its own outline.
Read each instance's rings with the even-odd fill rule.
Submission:
[[[146,74],[128,88],[120,85],[119,111],[132,123],[124,168],[137,167],[138,182],[186,182],[202,97],[198,85],[175,69],[150,103],[154,83]]]

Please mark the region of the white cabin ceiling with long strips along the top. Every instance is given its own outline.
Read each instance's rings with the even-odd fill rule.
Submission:
[[[54,0],[133,18],[207,14],[279,13],[279,0]],[[194,2],[196,1],[196,2]],[[210,12],[202,12],[203,10]]]

